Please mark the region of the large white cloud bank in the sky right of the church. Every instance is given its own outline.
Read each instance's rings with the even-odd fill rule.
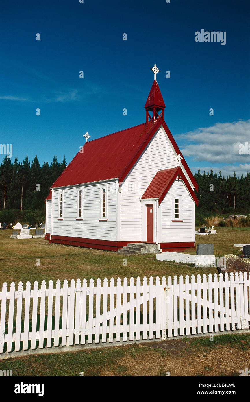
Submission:
[[[242,166],[250,161],[250,155],[239,154],[240,144],[250,144],[250,120],[216,123],[177,135],[176,138],[184,143],[182,154],[193,160],[212,164],[242,162]]]

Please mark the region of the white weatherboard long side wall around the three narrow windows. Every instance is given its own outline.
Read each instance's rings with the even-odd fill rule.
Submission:
[[[108,220],[100,220],[100,188],[107,186]],[[83,191],[83,220],[77,220],[78,189]],[[63,191],[63,220],[58,220],[58,197]],[[53,190],[53,236],[116,240],[117,193],[113,183]]]

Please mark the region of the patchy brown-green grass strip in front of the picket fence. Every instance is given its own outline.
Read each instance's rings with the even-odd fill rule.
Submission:
[[[77,352],[0,360],[0,369],[19,375],[238,376],[250,361],[250,335],[182,338]]]

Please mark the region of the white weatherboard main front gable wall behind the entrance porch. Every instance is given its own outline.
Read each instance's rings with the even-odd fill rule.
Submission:
[[[174,168],[178,164],[173,147],[161,126],[138,162],[129,172],[123,185],[125,192],[123,191],[123,187],[121,189],[121,230],[118,240],[142,240],[143,209],[139,199],[148,188],[158,170]],[[182,165],[181,167],[185,173]],[[189,177],[187,175],[186,177],[190,182]],[[193,184],[191,186],[193,188]],[[139,191],[129,191],[129,188],[133,190],[133,187],[139,189]],[[191,225],[191,220],[189,225]]]

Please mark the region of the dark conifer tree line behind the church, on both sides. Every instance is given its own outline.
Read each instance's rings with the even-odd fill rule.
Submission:
[[[29,161],[28,155],[23,162],[15,158],[13,162],[5,156],[0,165],[0,210],[19,209],[44,211],[44,199],[49,188],[66,168],[65,156],[62,162],[54,156],[52,163],[39,164],[37,155]],[[240,177],[234,172],[227,177],[210,172],[194,174],[199,185],[199,210],[209,213],[249,212],[250,172]]]

